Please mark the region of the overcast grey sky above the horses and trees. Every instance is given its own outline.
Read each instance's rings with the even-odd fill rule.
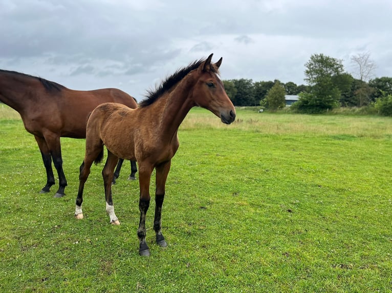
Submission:
[[[392,0],[0,0],[0,68],[138,101],[211,53],[222,79],[305,84],[320,53],[355,76],[364,52],[392,77],[391,17]]]

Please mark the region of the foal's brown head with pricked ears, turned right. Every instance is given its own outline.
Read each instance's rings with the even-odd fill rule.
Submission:
[[[218,77],[222,58],[216,63],[211,63],[211,58],[212,54],[194,72],[197,83],[193,89],[193,100],[220,117],[223,123],[230,124],[235,119],[235,108]]]

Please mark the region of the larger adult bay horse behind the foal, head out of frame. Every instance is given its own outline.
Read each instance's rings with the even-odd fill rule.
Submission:
[[[99,104],[116,102],[137,107],[136,100],[119,89],[72,90],[43,78],[1,69],[0,101],[20,114],[25,129],[37,141],[47,174],[41,193],[49,192],[55,184],[53,159],[59,180],[54,196],[57,198],[64,196],[67,186],[60,137],[85,138],[88,115]],[[135,169],[136,163],[133,164]]]

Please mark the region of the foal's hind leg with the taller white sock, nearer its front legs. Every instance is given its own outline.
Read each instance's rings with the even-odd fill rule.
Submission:
[[[118,157],[113,155],[112,152],[107,150],[107,159],[105,166],[102,169],[103,185],[105,187],[105,199],[106,199],[106,212],[110,216],[110,223],[113,225],[120,225],[120,221],[114,213],[113,199],[112,199],[112,181],[113,171],[118,162]]]

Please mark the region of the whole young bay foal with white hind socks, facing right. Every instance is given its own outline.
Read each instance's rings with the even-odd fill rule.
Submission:
[[[76,198],[75,217],[83,218],[83,189],[89,177],[91,165],[103,158],[103,145],[107,159],[102,170],[105,189],[106,212],[110,223],[119,225],[112,199],[113,170],[118,158],[136,160],[139,165],[140,222],[137,231],[139,254],[149,256],[146,243],[145,219],[150,204],[149,185],[151,173],[156,170],[154,230],[160,247],[166,247],[162,235],[162,204],[165,183],[171,158],[179,147],[178,129],[194,106],[210,110],[225,124],[235,119],[235,108],[219,79],[222,58],[211,63],[212,54],[206,60],[198,60],[179,69],[156,87],[148,91],[146,99],[136,109],[116,103],[99,105],[91,113],[86,129],[86,150],[80,166],[79,190]]]

